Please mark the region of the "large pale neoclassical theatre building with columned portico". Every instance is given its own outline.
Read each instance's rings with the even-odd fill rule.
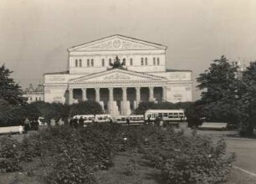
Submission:
[[[192,101],[192,72],[166,69],[166,49],[122,35],[69,48],[68,70],[44,74],[44,101],[95,100],[114,116],[131,114],[141,101]]]

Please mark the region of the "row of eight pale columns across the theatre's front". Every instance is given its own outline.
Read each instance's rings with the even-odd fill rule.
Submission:
[[[109,101],[114,100],[114,88],[109,89]],[[123,101],[127,100],[127,87],[122,87]],[[163,100],[166,100],[166,87],[162,87]],[[87,100],[86,89],[82,89],[82,100]],[[100,88],[95,88],[95,100],[100,101]],[[136,87],[136,103],[141,101],[141,87]],[[154,101],[154,87],[149,87],[149,101]],[[69,89],[69,105],[73,103],[73,89]]]

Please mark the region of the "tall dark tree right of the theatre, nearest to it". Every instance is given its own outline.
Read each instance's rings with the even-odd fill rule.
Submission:
[[[215,59],[209,69],[199,74],[197,87],[202,90],[201,103],[207,119],[238,122],[240,82],[236,74],[237,68],[224,56]]]

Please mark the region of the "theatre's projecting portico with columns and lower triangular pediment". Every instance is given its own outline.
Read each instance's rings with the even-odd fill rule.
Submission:
[[[112,115],[131,114],[141,99],[156,103],[166,101],[165,78],[125,69],[110,69],[100,74],[71,79],[68,88],[69,105],[95,100]]]

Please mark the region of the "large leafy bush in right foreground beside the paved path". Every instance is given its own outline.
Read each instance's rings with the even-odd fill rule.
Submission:
[[[223,140],[213,144],[206,136],[185,136],[156,130],[146,158],[161,170],[166,183],[218,183],[225,181],[234,156],[225,156]]]

